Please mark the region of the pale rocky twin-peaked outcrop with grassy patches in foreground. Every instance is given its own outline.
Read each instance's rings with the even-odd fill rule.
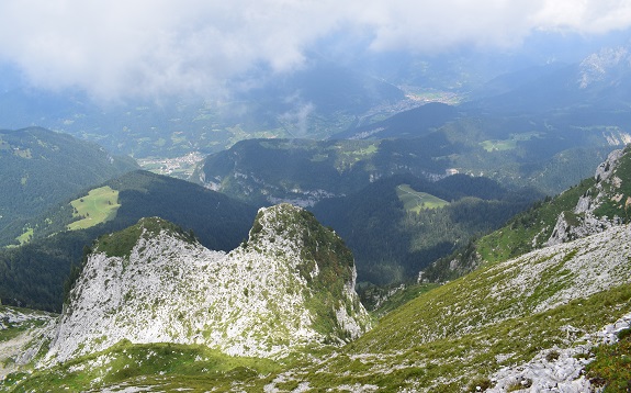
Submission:
[[[204,248],[160,218],[143,218],[99,239],[47,359],[124,339],[257,357],[346,343],[370,328],[354,278],[341,239],[289,204],[261,209],[249,239],[229,254]]]

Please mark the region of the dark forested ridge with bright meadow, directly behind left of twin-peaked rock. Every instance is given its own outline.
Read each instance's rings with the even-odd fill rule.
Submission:
[[[243,239],[235,240],[232,227],[236,225],[239,228],[236,231],[244,236],[255,213],[255,207],[218,192],[138,170],[84,189],[75,194],[72,201],[60,203],[37,217],[14,223],[0,232],[0,239],[15,244],[19,236],[23,237],[24,228],[29,228],[30,239],[99,224],[110,225],[110,231],[119,231],[142,217],[159,215],[194,228],[207,247],[227,250]],[[207,220],[211,214],[215,216],[214,221]]]

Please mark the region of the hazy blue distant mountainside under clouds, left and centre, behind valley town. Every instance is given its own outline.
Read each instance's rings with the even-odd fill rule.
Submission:
[[[100,104],[72,90],[10,87],[0,91],[0,127],[36,122],[115,154],[173,158],[221,151],[253,137],[326,138],[369,109],[405,99],[396,86],[317,55],[290,76],[253,72],[226,81],[229,97],[214,99],[125,98]]]

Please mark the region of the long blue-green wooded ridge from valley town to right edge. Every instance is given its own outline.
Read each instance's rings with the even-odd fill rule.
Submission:
[[[430,113],[431,105],[426,106],[429,112],[422,113]],[[611,148],[631,141],[623,128],[627,112],[609,116],[588,108],[549,117],[458,111],[437,127],[424,127],[404,112],[362,128],[375,131],[378,138],[351,130],[347,136],[361,137],[243,141],[207,156],[194,181],[258,205],[285,201],[308,206],[398,173],[433,180],[453,172],[484,176],[552,195],[588,176]]]

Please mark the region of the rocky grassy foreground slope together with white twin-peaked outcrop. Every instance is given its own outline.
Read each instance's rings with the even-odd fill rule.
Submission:
[[[611,202],[620,206],[612,196],[627,192],[623,184],[629,182],[629,172],[624,170],[629,157],[628,150],[610,155],[589,180],[590,187],[600,192],[591,196],[574,193],[575,202],[581,198],[601,201],[594,212]],[[557,199],[562,198],[568,196],[562,194]],[[541,210],[543,205],[534,211]],[[15,363],[4,362],[13,366],[5,370],[11,373],[5,374],[3,389],[30,391],[45,385],[52,390],[143,386],[171,391],[583,392],[604,384],[623,389],[624,377],[612,377],[610,372],[623,367],[626,355],[620,350],[628,345],[627,333],[631,328],[631,228],[622,217],[618,218],[596,233],[545,242],[543,248],[516,258],[484,260],[473,272],[390,312],[370,330],[363,308],[352,305],[359,307],[350,285],[351,259],[339,258],[350,257],[350,252],[343,251],[339,237],[319,226],[304,210],[282,204],[259,211],[247,243],[227,256],[200,248],[194,238],[172,224],[145,218],[99,239],[56,322],[40,313],[2,308],[8,332],[19,337],[24,337],[20,336],[23,334],[40,337],[31,341],[30,351],[20,352],[29,356],[13,358]],[[214,271],[211,266],[217,261],[224,261],[216,268],[228,269],[226,273],[202,279],[206,274],[202,271]],[[266,268],[258,270],[257,266]],[[277,266],[294,268],[277,277],[270,272]],[[201,270],[190,276],[198,269]],[[239,271],[239,280],[232,283],[230,269]],[[340,269],[346,273],[340,273]],[[138,273],[145,279],[133,279]],[[268,273],[266,278],[260,276]],[[297,281],[292,281],[292,277]],[[290,291],[280,281],[262,285],[266,280],[281,278],[302,282],[306,290]],[[180,291],[181,282],[195,290]],[[216,290],[196,290],[198,285],[215,283],[221,283]],[[364,327],[351,328],[357,334],[342,334],[341,341],[316,339],[307,347],[296,347],[291,340],[281,339],[285,351],[259,351],[257,343],[268,343],[288,332],[288,327],[272,323],[278,321],[282,325],[283,316],[266,317],[274,306],[253,306],[266,290],[283,292],[283,301],[293,299],[292,293],[302,293],[302,302],[283,308],[289,315],[311,310],[309,302],[305,303],[309,295],[322,296],[315,304],[327,304],[319,310],[323,313],[319,315],[326,317],[318,325],[334,328],[328,332],[339,332],[336,326]],[[223,297],[228,293],[230,294]],[[166,293],[182,299],[170,303],[172,299],[165,297]],[[350,297],[345,297],[345,293],[351,294]],[[250,295],[255,303],[245,299]],[[128,299],[124,300],[125,296]],[[198,300],[188,300],[192,297]],[[206,301],[221,299],[225,299],[224,306],[221,302],[205,305]],[[235,300],[232,305],[230,299]],[[343,299],[349,299],[349,303]],[[281,299],[274,299],[273,304],[277,301]],[[341,304],[346,305],[338,308]],[[187,313],[178,313],[179,307]],[[342,314],[356,315],[356,323],[336,312],[345,308]],[[202,317],[226,310],[228,314],[217,322]],[[251,332],[247,326],[241,326],[244,315],[262,318],[255,324],[258,333],[233,336],[234,332]],[[189,325],[198,317],[210,325]],[[234,325],[224,325],[228,321]],[[306,323],[309,318],[291,321]],[[110,333],[92,329],[105,323],[112,327]],[[27,326],[32,326],[26,329],[30,333],[23,333]],[[209,335],[204,335],[206,328],[211,328]],[[227,330],[214,335],[215,328]],[[213,337],[217,340],[213,341]],[[232,347],[234,339],[252,339],[247,346],[249,351],[244,351],[246,347],[238,343]],[[350,343],[340,347],[345,340]],[[202,341],[205,344],[201,345]],[[240,349],[230,352],[229,348]],[[263,348],[270,347],[263,345]],[[243,357],[228,358],[227,352]],[[38,366],[33,368],[35,364]],[[32,371],[15,372],[18,368]]]

